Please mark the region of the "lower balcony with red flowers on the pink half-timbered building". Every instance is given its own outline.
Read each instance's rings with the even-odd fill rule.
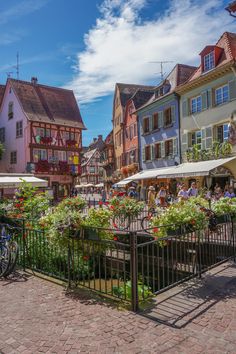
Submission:
[[[59,161],[59,163],[50,163],[47,160],[40,160],[36,163],[28,163],[26,170],[29,173],[45,173],[51,175],[78,176],[81,174],[80,165],[68,164],[64,161]]]

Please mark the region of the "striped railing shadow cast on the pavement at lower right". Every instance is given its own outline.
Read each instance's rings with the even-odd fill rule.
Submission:
[[[139,313],[173,328],[184,328],[219,301],[236,297],[236,265],[221,266],[214,274],[205,274],[163,294],[155,305]]]

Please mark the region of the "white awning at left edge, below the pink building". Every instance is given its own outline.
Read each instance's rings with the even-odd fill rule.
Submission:
[[[48,181],[34,176],[4,175],[0,176],[0,188],[16,188],[19,187],[23,181],[32,184],[34,187],[48,186]]]

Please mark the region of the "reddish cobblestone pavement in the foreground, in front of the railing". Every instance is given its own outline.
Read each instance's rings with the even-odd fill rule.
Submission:
[[[0,281],[0,352],[236,353],[236,266],[214,272],[142,314],[18,274]]]

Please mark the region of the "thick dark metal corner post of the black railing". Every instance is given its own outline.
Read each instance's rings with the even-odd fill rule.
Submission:
[[[132,311],[138,311],[137,233],[130,232],[130,274]]]

